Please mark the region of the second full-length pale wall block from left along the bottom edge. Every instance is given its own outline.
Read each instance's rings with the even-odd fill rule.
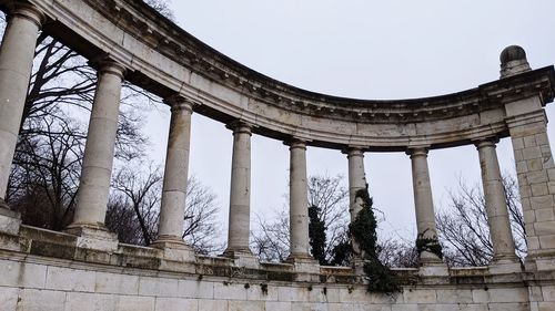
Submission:
[[[118,297],[112,294],[98,294],[85,292],[68,292],[65,311],[117,311]]]

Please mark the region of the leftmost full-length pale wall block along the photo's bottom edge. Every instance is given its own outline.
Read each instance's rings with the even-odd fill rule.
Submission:
[[[19,293],[19,302],[17,310],[60,311],[64,310],[64,304],[65,304],[65,292],[63,291],[22,289]]]

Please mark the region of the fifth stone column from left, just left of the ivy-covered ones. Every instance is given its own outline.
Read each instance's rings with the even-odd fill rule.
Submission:
[[[306,184],[306,143],[290,145],[290,259],[311,259],[309,242],[309,194]]]

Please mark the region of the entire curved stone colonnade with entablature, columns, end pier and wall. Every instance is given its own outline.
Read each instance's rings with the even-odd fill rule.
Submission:
[[[154,301],[155,307],[145,310],[182,308],[168,301],[186,300],[188,296],[192,310],[204,310],[209,302],[241,309],[232,307],[230,301],[235,300],[254,310],[291,310],[322,301],[326,303],[314,308],[335,310],[345,303],[353,308],[373,303],[390,308],[386,310],[392,304],[413,310],[420,304],[441,309],[442,304],[455,308],[452,305],[461,303],[468,310],[555,308],[549,302],[555,300],[551,274],[555,270],[555,166],[543,108],[554,99],[555,72],[553,66],[531,70],[522,48],[505,49],[500,80],[475,89],[426,99],[364,101],[312,93],[254,72],[141,1],[0,0],[0,8],[9,15],[0,48],[0,271],[8,276],[0,281],[0,301],[16,297],[22,301],[13,304],[20,310],[37,301],[38,296],[31,294],[34,290],[51,294],[49,299],[87,297],[94,301],[108,291],[120,302],[127,301],[125,294]],[[88,58],[99,73],[75,215],[65,232],[22,226],[18,212],[3,201],[41,29]],[[171,106],[160,235],[150,248],[121,245],[104,226],[123,81],[163,97]],[[181,238],[193,112],[226,124],[233,133],[230,226],[223,257],[199,257]],[[290,146],[291,257],[282,265],[259,262],[249,248],[253,134]],[[518,174],[528,246],[525,268],[515,256],[495,152],[503,137],[512,138]],[[364,154],[406,153],[412,162],[417,234],[435,239],[427,154],[468,144],[480,155],[494,247],[490,267],[447,269],[436,253],[423,251],[418,269],[397,271],[404,292],[396,300],[380,300],[357,296],[363,280],[356,269],[324,268],[311,258],[306,146],[347,155],[352,218],[361,208],[355,194],[366,185]],[[32,269],[41,281],[26,272]],[[209,280],[203,276],[210,276]],[[122,281],[115,286],[105,278]],[[230,287],[222,288],[221,282]],[[307,293],[300,290],[305,283]],[[130,293],[122,292],[128,286]],[[198,287],[194,293],[189,291],[192,287]],[[205,290],[199,289],[203,287]],[[12,292],[17,288],[28,292]],[[165,288],[168,292],[162,290]],[[88,294],[75,293],[80,291]],[[159,307],[159,300],[170,304]],[[72,308],[68,300],[60,305]],[[124,309],[121,305],[131,308],[133,303],[117,305]]]

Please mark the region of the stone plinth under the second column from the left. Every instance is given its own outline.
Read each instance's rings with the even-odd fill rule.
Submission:
[[[64,232],[77,236],[77,247],[102,251],[118,250],[118,235],[110,232],[104,226],[71,225]]]

